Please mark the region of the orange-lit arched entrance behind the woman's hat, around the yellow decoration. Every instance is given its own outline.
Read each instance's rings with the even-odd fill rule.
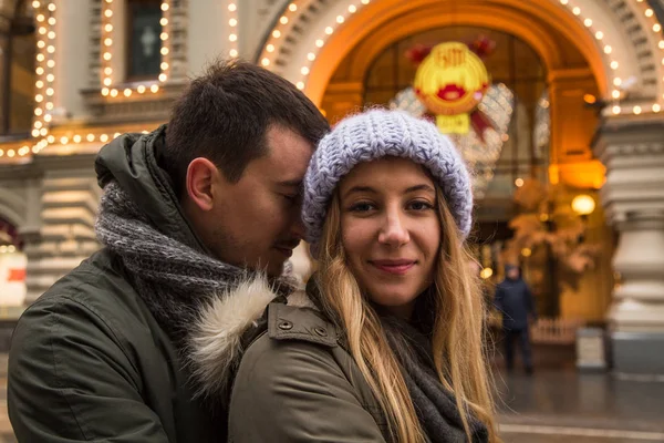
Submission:
[[[475,169],[477,255],[487,270],[494,272],[492,281],[501,278],[499,275],[506,260],[520,262],[538,295],[541,315],[602,319],[611,295],[609,281],[612,277],[608,259],[599,262],[594,271],[567,274],[568,257],[553,255],[552,249],[543,243],[537,247],[531,244],[528,247],[519,246],[516,251],[516,247],[511,247],[512,256],[506,257],[509,239],[515,235],[510,224],[516,217],[539,217],[549,210],[542,207],[528,210],[517,207],[513,200],[517,189],[532,192],[526,190],[526,187],[519,188],[523,182],[527,186],[539,183],[543,188],[548,187],[547,198],[552,199],[551,218],[556,218],[558,227],[539,223],[537,228],[550,228],[551,236],[561,234],[562,226],[573,222],[572,212],[567,210],[571,198],[580,193],[590,193],[598,198],[595,189],[603,182],[603,166],[593,161],[590,154],[598,117],[595,111],[585,105],[583,95],[596,96],[599,91],[583,55],[572,44],[561,41],[554,49],[559,55],[564,52],[571,65],[567,69],[571,79],[566,80],[561,75],[564,69],[560,69],[556,78],[549,74],[546,60],[538,51],[512,33],[471,25],[428,28],[425,27],[429,22],[428,16],[423,14],[422,19],[422,27],[413,27],[415,31],[404,38],[395,40],[392,27],[376,29],[351,49],[332,74],[320,102],[321,109],[334,123],[365,105],[398,105],[397,97],[412,86],[417,69],[406,53],[418,45],[430,47],[448,41],[470,43],[478,38],[494,43],[496,48],[485,58],[484,64],[494,85],[504,87],[513,97],[507,111],[498,111],[509,112],[506,115],[507,126],[502,132],[498,131],[502,143],[491,147],[499,154],[487,163],[485,159],[489,156],[485,154],[489,151],[488,145],[473,146],[468,137],[455,138],[466,161]],[[401,33],[397,35],[401,37]],[[483,102],[481,106],[485,106],[485,115],[494,113],[489,111],[491,103]],[[413,105],[407,104],[406,107],[412,110]],[[574,119],[553,120],[551,111],[554,112],[553,116],[574,115]],[[497,121],[494,116],[490,120]],[[539,133],[546,133],[546,136]],[[558,147],[564,151],[556,152],[551,143],[558,143]],[[570,154],[570,146],[580,151],[577,155],[583,151],[584,157]],[[546,186],[550,182],[552,185]],[[604,225],[603,215],[598,210],[592,215],[588,231],[592,233],[593,241],[603,241],[610,249],[611,231],[603,228]],[[516,234],[520,235],[520,231]],[[606,256],[611,256],[611,250]]]

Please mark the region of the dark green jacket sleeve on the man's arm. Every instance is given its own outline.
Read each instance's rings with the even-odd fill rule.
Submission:
[[[168,442],[118,343],[106,322],[75,300],[54,297],[30,307],[9,354],[8,408],[18,441]]]

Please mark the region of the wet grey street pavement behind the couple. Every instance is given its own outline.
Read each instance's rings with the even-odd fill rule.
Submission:
[[[15,443],[7,416],[7,354],[0,354],[0,443]],[[573,367],[533,375],[496,368],[506,443],[664,442],[664,378],[580,373]]]

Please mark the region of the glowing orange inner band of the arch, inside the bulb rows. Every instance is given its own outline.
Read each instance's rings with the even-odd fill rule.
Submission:
[[[366,47],[366,51],[362,51],[362,59],[353,64],[352,78],[355,78],[357,72],[366,72],[375,56],[396,41],[428,29],[463,24],[495,29],[523,40],[542,58],[550,71],[564,65],[564,54],[561,53],[559,42],[561,33],[575,43],[588,60],[598,83],[599,94],[606,93],[608,78],[603,54],[598,50],[594,37],[582,23],[571,18],[566,9],[553,2],[495,0],[481,6],[464,4],[454,14],[448,11],[449,2],[440,0],[371,2],[349,18],[325,42],[311,65],[304,92],[320,105],[332,74],[345,54],[356,45],[362,44],[363,49]],[[377,17],[381,20],[376,20]],[[533,27],[532,22],[537,20],[550,24],[557,33]],[[371,40],[371,47],[362,43],[367,40]]]

